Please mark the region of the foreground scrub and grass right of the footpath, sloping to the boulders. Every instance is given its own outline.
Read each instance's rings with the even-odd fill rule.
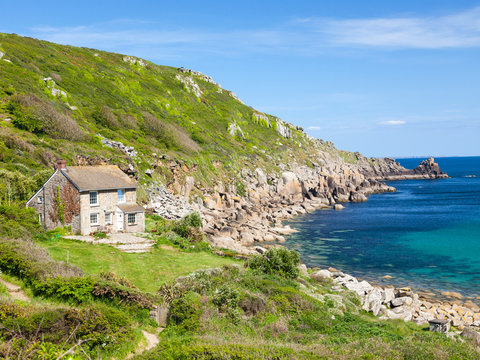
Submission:
[[[171,304],[170,323],[160,345],[136,359],[480,358],[471,343],[364,313],[355,295],[332,293],[328,281],[227,266],[159,294]]]

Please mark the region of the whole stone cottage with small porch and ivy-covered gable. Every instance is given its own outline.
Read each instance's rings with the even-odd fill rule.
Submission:
[[[56,170],[27,202],[45,229],[71,226],[94,232],[143,232],[145,209],[137,204],[137,184],[114,165],[66,166]]]

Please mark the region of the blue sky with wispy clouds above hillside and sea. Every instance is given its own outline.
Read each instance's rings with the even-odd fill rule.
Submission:
[[[367,156],[480,155],[480,1],[2,1],[0,32],[210,75]]]

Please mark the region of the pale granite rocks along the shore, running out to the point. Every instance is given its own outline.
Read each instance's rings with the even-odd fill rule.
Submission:
[[[448,175],[429,158],[413,170],[392,159],[367,159],[347,163],[324,153],[312,166],[285,168],[279,175],[244,169],[245,195],[234,186],[218,184],[195,204],[204,218],[204,228],[212,244],[240,253],[254,253],[258,245],[283,242],[293,229],[282,220],[317,209],[341,210],[342,203],[363,202],[373,193],[394,192],[382,180],[438,179]],[[271,245],[270,245],[271,246]]]

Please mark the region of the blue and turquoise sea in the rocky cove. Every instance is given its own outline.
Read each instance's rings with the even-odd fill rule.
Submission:
[[[396,160],[411,169],[422,159]],[[480,157],[435,161],[449,179],[389,181],[395,193],[298,216],[285,245],[308,266],[375,284],[480,296]]]

